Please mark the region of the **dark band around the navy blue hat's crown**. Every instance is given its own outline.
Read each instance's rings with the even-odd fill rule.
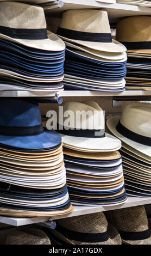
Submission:
[[[34,126],[5,126],[0,125],[0,135],[7,136],[33,136],[43,133],[42,125]]]

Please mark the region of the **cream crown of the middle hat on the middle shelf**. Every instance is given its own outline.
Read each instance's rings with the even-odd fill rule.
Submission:
[[[69,101],[62,103],[61,106],[63,107],[64,127],[84,130],[104,129],[104,113],[96,102]]]

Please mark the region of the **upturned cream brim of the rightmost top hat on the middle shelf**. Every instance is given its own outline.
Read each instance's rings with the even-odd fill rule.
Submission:
[[[151,157],[151,147],[147,146],[147,145],[143,145],[140,143],[137,143],[135,141],[131,141],[131,139],[128,139],[126,137],[124,137],[123,135],[121,135],[121,133],[119,133],[116,130],[116,126],[118,124],[118,121],[121,119],[121,115],[115,115],[112,117],[109,117],[106,121],[106,126],[108,127],[109,131],[115,135],[118,139],[120,139],[122,142],[128,144],[130,147],[137,149],[137,151],[139,151],[140,153],[143,153],[149,157]]]

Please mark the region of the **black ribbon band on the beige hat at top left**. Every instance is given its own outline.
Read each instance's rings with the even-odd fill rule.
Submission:
[[[27,29],[0,26],[0,33],[16,39],[40,40],[48,38],[46,28]]]

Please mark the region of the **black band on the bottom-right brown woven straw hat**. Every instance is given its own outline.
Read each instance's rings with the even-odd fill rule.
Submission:
[[[123,240],[144,240],[150,237],[150,229],[144,231],[137,231],[137,232],[129,232],[129,231],[121,231],[118,230],[119,235]]]

